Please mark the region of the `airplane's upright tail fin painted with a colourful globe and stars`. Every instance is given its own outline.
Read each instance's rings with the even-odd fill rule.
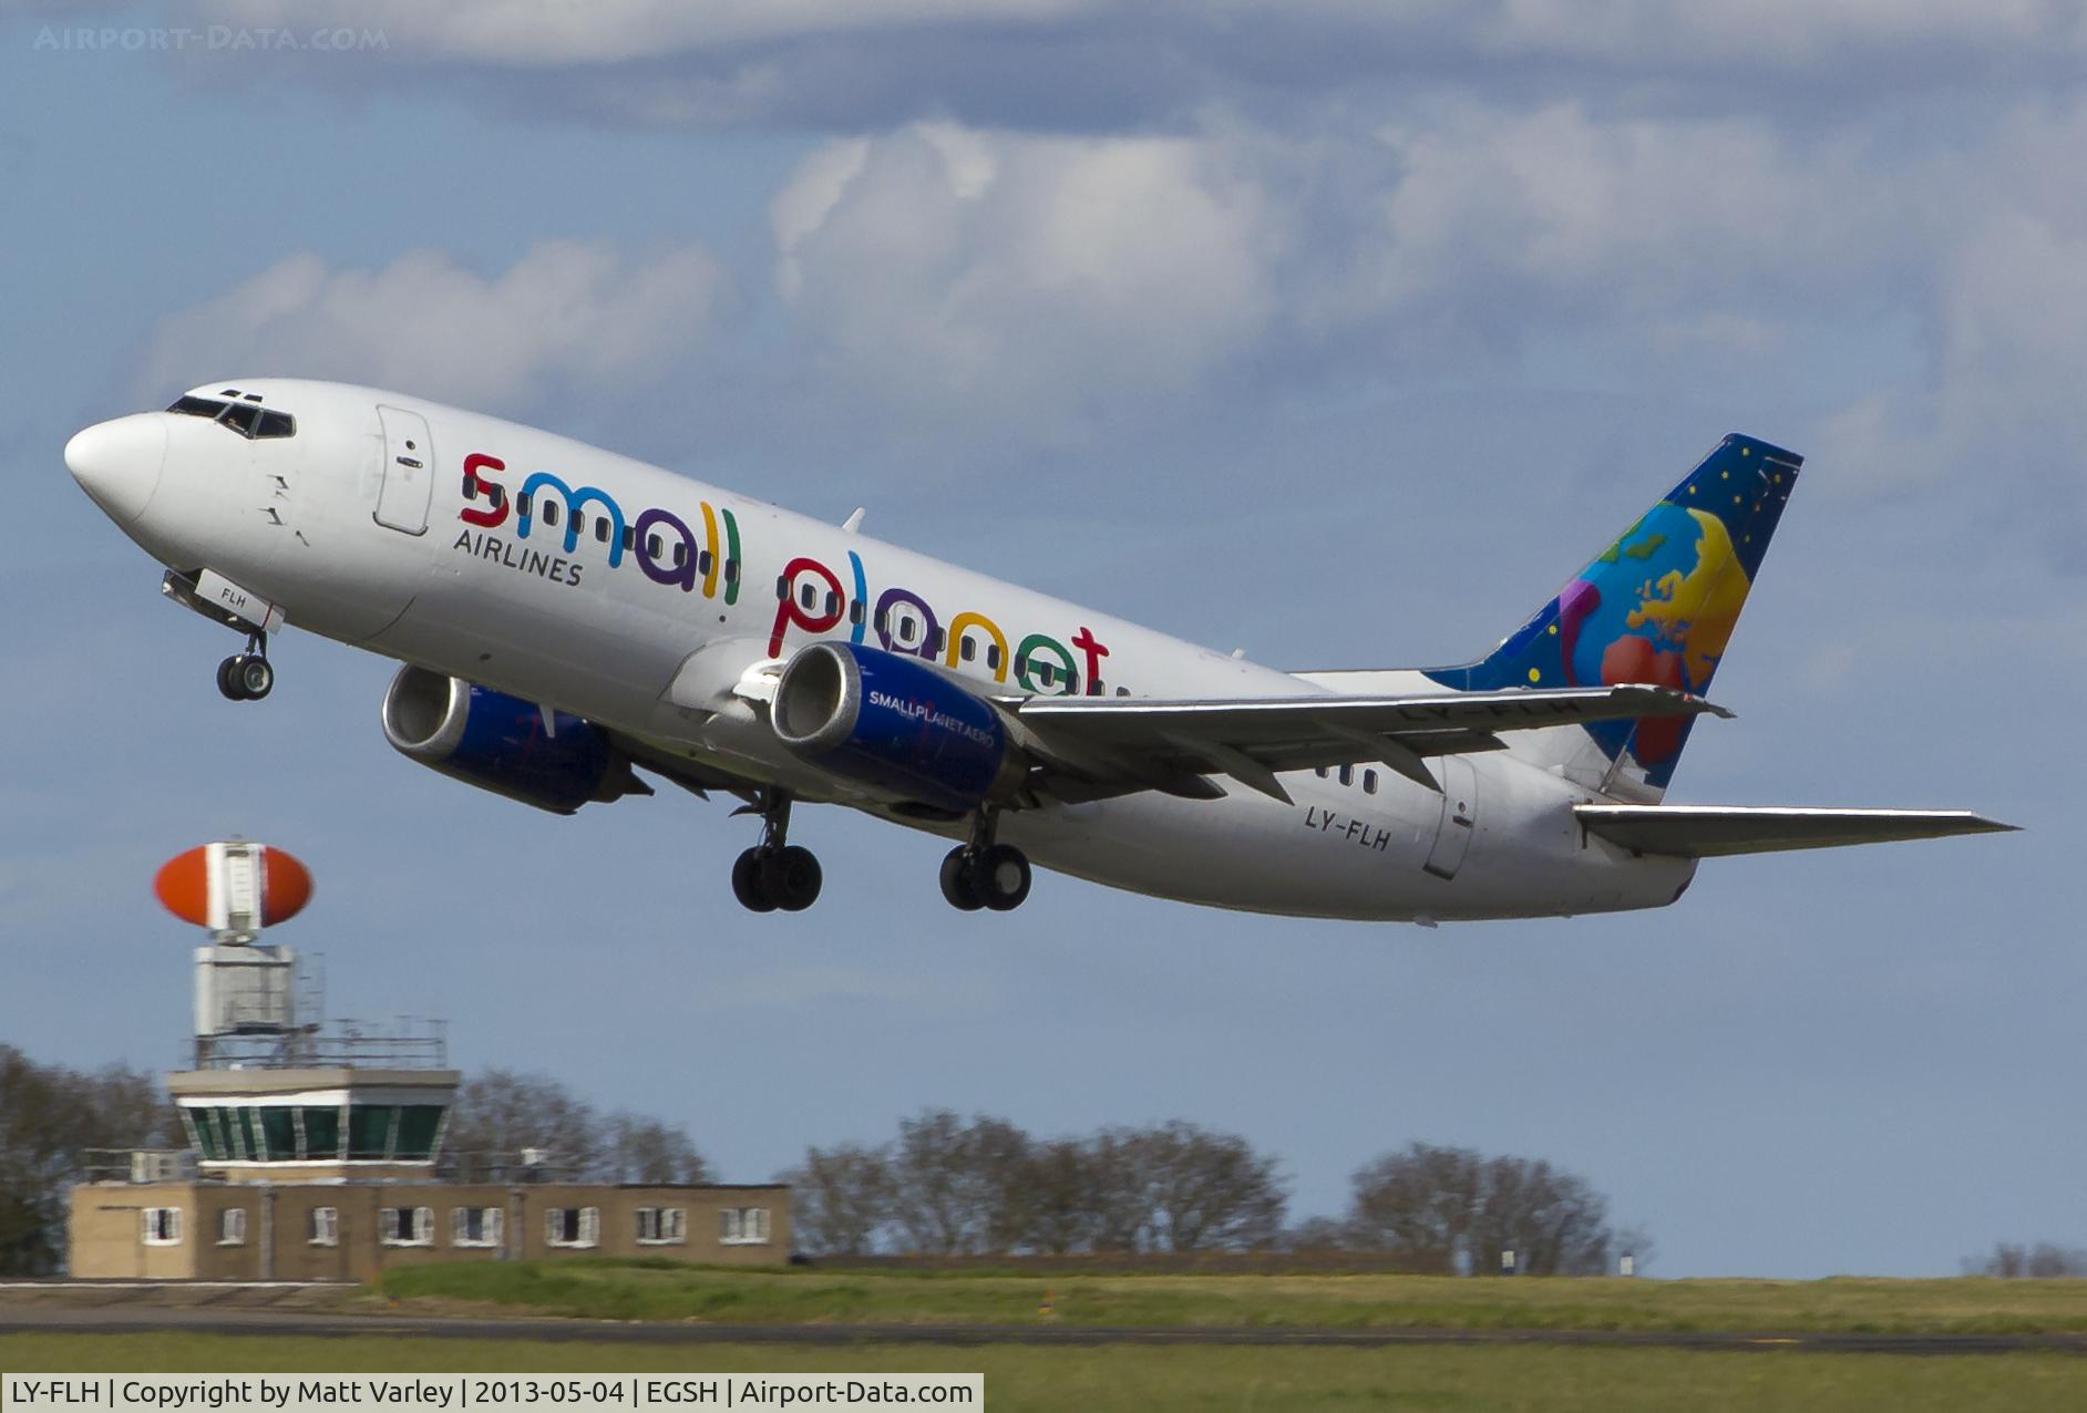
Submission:
[[[1457,691],[1653,682],[1707,693],[1799,465],[1780,447],[1726,436],[1492,655],[1428,676]],[[1582,781],[1590,787],[1630,781],[1626,793],[1657,799],[1693,720],[1574,726],[1599,758],[1569,749],[1557,764],[1574,779],[1599,774]]]

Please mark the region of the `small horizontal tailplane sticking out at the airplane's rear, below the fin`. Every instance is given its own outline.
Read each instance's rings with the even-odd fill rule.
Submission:
[[[1970,810],[1780,810],[1751,806],[1574,806],[1590,833],[1634,854],[1718,858],[2016,829]]]

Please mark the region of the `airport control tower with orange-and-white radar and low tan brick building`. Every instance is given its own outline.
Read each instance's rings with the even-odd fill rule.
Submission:
[[[532,1150],[445,1156],[459,1075],[442,1023],[328,1021],[315,958],[261,941],[311,897],[290,854],[207,843],[154,891],[207,931],[190,1069],[167,1075],[188,1148],[83,1154],[75,1277],[365,1282],[422,1261],[789,1252],[776,1183],[584,1181]]]

